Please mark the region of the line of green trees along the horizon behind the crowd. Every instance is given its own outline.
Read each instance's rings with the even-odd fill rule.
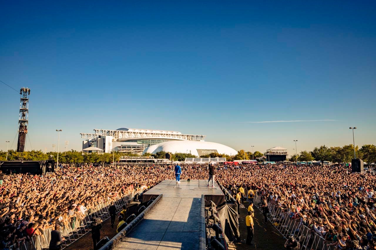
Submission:
[[[376,146],[373,144],[363,145],[360,149],[358,146],[355,147],[356,151],[356,158],[360,158],[367,163],[376,163]],[[156,154],[144,154],[144,156],[153,156],[157,159],[164,159],[165,154],[169,153],[171,155],[171,160],[173,161],[184,161],[185,158],[195,158],[198,157],[197,155],[193,154],[185,154],[185,153],[176,153],[172,154],[170,152],[160,151]],[[51,158],[52,155],[52,158]],[[25,151],[23,153],[18,153],[15,150],[8,150],[8,160],[25,160],[25,161],[42,161],[53,159],[57,160],[57,152],[47,152],[46,154],[43,153],[41,150],[32,150],[32,151]],[[225,155],[225,154],[218,154],[218,153],[211,153],[208,155],[202,155],[201,158],[208,158],[208,157],[225,157],[227,161],[233,160],[252,160],[259,157],[262,157],[262,154],[259,151],[249,152],[241,149],[238,151],[236,155]],[[77,164],[77,163],[111,163],[113,157],[115,161],[119,161],[120,157],[124,156],[138,156],[136,154],[127,154],[121,152],[113,153],[104,153],[104,154],[82,154],[80,151],[67,151],[67,152],[60,152],[59,153],[59,163],[70,163],[70,164]],[[315,147],[312,151],[301,151],[297,156],[294,154],[290,157],[290,161],[296,161],[296,157],[298,161],[331,161],[333,163],[349,163],[351,159],[354,158],[354,147],[352,144],[344,145],[343,147],[327,147],[322,145],[320,147]],[[0,161],[6,160],[6,151],[0,151]]]

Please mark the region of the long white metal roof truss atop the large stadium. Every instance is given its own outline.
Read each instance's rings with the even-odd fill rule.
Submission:
[[[171,140],[189,140],[189,141],[200,141],[205,140],[206,136],[203,135],[193,135],[193,134],[169,134],[166,131],[153,132],[133,132],[133,131],[122,131],[122,130],[94,130],[94,134],[80,133],[82,138],[92,139],[97,136],[112,136],[117,140],[121,139],[171,139]]]

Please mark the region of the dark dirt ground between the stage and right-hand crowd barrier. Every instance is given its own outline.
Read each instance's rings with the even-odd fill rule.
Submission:
[[[242,206],[244,205],[244,206]],[[252,240],[252,246],[246,245],[247,238],[247,227],[246,227],[246,216],[248,215],[248,202],[244,202],[240,205],[240,218],[239,218],[239,231],[242,242],[235,243],[237,250],[245,249],[258,249],[258,250],[279,250],[285,249],[284,244],[286,239],[277,231],[277,229],[268,221],[263,224],[264,215],[262,212],[254,206],[255,217],[253,218],[254,225],[254,235]]]

